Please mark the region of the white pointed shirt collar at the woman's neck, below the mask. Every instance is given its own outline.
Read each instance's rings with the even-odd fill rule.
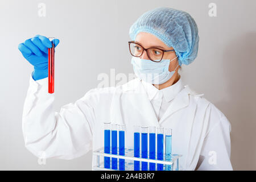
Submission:
[[[147,92],[148,99],[150,101],[157,98],[159,93],[163,93],[164,100],[166,100],[167,102],[170,102],[175,98],[175,96],[177,96],[177,94],[184,87],[183,82],[181,81],[181,78],[179,78],[179,80],[174,85],[168,86],[167,88],[164,88],[161,90],[155,88],[154,85],[146,81],[141,80],[141,82]]]

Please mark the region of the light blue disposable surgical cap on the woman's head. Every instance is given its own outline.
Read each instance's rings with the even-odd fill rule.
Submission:
[[[196,59],[199,35],[195,20],[185,11],[158,7],[141,15],[130,27],[129,35],[135,40],[139,32],[148,32],[173,47],[179,65]]]

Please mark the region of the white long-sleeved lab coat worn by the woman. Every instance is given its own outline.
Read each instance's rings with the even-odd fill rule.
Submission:
[[[48,78],[35,81],[30,75],[22,118],[25,146],[39,158],[73,159],[104,146],[104,122],[126,125],[127,148],[133,148],[134,125],[170,127],[172,151],[183,155],[181,169],[232,170],[230,123],[202,96],[184,86],[158,121],[141,80],[135,78],[121,86],[91,89],[57,112]]]

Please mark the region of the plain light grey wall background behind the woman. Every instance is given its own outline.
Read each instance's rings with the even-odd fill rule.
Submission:
[[[46,17],[38,3],[46,3]],[[208,15],[216,3],[217,17]],[[199,27],[199,53],[180,72],[186,84],[232,124],[234,169],[256,169],[256,1],[0,1],[0,169],[91,169],[92,152],[73,160],[38,159],[24,147],[22,111],[32,72],[18,44],[37,34],[56,36],[55,110],[100,82],[100,73],[133,73],[127,46],[131,24],[159,6],[187,11]],[[111,43],[110,43],[111,42]],[[119,46],[114,53],[112,46]]]

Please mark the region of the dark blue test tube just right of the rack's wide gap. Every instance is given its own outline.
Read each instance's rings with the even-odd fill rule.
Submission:
[[[141,127],[134,126],[134,157],[140,157],[140,134],[141,134]],[[139,171],[140,165],[138,160],[134,160],[134,171]]]

